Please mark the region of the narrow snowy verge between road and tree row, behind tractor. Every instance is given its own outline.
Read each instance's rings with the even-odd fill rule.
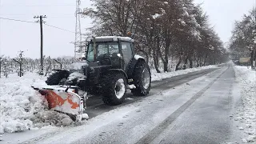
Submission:
[[[165,78],[171,78],[177,75],[182,75],[182,74],[188,74],[194,71],[199,71],[199,70],[206,70],[206,69],[212,69],[212,68],[218,68],[218,66],[202,66],[202,67],[196,67],[192,69],[186,69],[186,70],[178,70],[178,71],[172,71],[169,73],[157,73],[155,70],[152,70],[152,81],[161,81],[162,79]]]

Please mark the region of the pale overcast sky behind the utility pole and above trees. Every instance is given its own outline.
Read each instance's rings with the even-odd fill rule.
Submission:
[[[214,26],[223,42],[227,42],[234,26],[234,21],[255,6],[256,0],[195,0],[203,2],[203,8],[210,15],[210,23]],[[90,0],[82,0],[82,8],[90,6]],[[0,17],[13,18],[28,22],[14,22],[0,19],[0,56],[18,55],[19,50],[25,51],[30,58],[40,57],[40,30],[34,22],[35,15],[46,15],[46,24],[70,30],[58,30],[50,26],[44,29],[44,54],[73,56],[75,0],[0,0]],[[90,27],[91,20],[82,18],[82,33]]]

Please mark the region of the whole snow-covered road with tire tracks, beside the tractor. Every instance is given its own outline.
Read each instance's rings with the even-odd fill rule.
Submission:
[[[80,126],[4,134],[4,143],[222,143],[238,134],[230,115],[241,101],[231,64],[154,82],[149,97],[89,107]],[[0,142],[0,143],[2,143]],[[238,141],[237,141],[238,142]]]

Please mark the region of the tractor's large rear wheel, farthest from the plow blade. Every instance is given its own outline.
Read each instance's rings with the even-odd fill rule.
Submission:
[[[151,88],[151,73],[150,67],[145,61],[138,61],[134,67],[134,85],[135,89],[131,92],[136,96],[146,96]]]

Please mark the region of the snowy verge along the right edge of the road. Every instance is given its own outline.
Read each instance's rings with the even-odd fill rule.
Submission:
[[[242,130],[242,142],[256,142],[256,71],[247,66],[234,66],[236,81],[241,89],[242,106],[234,114],[237,128]]]

